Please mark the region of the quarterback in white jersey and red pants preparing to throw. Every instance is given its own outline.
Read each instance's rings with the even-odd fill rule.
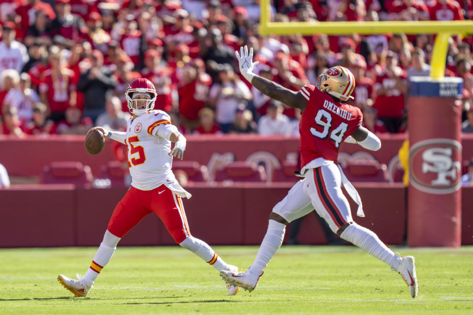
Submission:
[[[155,213],[165,224],[177,244],[201,257],[217,271],[238,271],[228,265],[205,242],[191,235],[181,198],[191,194],[176,181],[171,171],[172,158],[182,159],[186,138],[170,123],[163,111],[152,110],[156,90],[147,79],[135,79],[125,92],[133,117],[127,131],[118,132],[94,127],[109,137],[128,146],[128,166],[132,185],[117,204],[108,223],[99,250],[84,277],[78,280],[59,275],[58,281],[75,296],[86,296],[102,268],[110,261],[120,239],[141,219]],[[90,132],[90,131],[89,131]],[[171,150],[171,142],[175,142]],[[238,286],[227,284],[228,294],[235,295]]]

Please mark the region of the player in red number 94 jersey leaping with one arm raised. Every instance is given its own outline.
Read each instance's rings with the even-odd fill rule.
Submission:
[[[282,244],[286,225],[310,213],[314,208],[327,221],[332,231],[342,239],[369,252],[396,270],[409,287],[412,297],[417,295],[417,278],[414,257],[399,257],[387,248],[369,229],[356,224],[350,206],[341,190],[341,184],[359,205],[357,214],[364,216],[360,196],[337,166],[341,142],[358,143],[369,150],[379,150],[380,140],[360,126],[363,115],[359,108],[342,103],[350,98],[355,87],[353,74],[342,66],[322,73],[317,83],[306,85],[293,92],[253,73],[253,49],[240,48],[236,52],[241,74],[264,94],[299,108],[302,118],[301,176],[284,199],[274,206],[270,214],[268,231],[258,250],[255,261],[245,272],[221,271],[221,277],[230,284],[252,291],[263,269]],[[351,137],[350,137],[351,136]],[[348,138],[348,140],[347,140]]]

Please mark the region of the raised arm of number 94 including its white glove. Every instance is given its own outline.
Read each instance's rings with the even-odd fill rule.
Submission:
[[[248,52],[248,47],[240,47],[240,53],[238,54],[235,51],[236,58],[238,59],[241,74],[243,77],[248,80],[256,89],[261,91],[261,93],[270,96],[272,99],[278,100],[287,106],[299,108],[301,110],[305,109],[307,105],[307,100],[300,92],[294,92],[289,89],[280,86],[279,84],[272,82],[268,79],[260,77],[253,73],[254,67],[259,63],[253,63],[253,48],[250,48]]]

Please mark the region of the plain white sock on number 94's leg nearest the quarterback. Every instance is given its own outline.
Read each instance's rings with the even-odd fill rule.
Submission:
[[[266,231],[265,238],[263,242],[261,242],[255,261],[253,261],[251,265],[251,273],[261,275],[272,256],[274,256],[281,247],[282,241],[284,240],[284,233],[286,233],[285,224],[270,220],[268,223],[268,231]]]

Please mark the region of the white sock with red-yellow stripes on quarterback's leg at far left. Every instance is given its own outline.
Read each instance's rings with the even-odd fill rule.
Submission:
[[[89,269],[87,269],[84,277],[82,277],[82,283],[87,286],[94,284],[94,281],[99,276],[102,268],[105,267],[105,265],[112,258],[113,253],[117,249],[118,241],[120,241],[119,237],[108,232],[108,230],[105,231],[105,235],[103,235],[103,241],[94,256]]]

